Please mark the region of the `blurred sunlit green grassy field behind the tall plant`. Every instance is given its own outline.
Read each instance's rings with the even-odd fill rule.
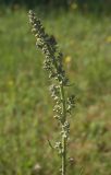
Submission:
[[[111,19],[36,11],[64,52],[77,97],[71,118],[69,175],[111,175]],[[0,11],[0,175],[59,174],[48,139],[58,139],[49,81],[27,11]]]

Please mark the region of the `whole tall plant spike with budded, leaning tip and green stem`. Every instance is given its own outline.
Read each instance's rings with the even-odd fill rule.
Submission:
[[[66,175],[67,167],[67,142],[70,133],[69,116],[75,106],[75,96],[67,96],[66,89],[70,86],[69,79],[63,68],[63,54],[59,50],[55,38],[48,35],[33,11],[29,11],[32,32],[36,37],[36,46],[45,56],[44,69],[48,72],[51,85],[51,97],[54,101],[54,118],[59,121],[60,141],[52,147],[61,158],[61,175]]]

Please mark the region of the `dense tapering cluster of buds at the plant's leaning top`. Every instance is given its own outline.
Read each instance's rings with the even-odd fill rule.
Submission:
[[[63,55],[58,50],[54,36],[48,35],[42,27],[40,20],[37,20],[35,13],[29,11],[29,22],[33,26],[32,32],[36,37],[36,46],[40,48],[46,57],[44,68],[49,72],[49,78],[54,78],[60,83],[66,84],[67,78],[63,70]]]

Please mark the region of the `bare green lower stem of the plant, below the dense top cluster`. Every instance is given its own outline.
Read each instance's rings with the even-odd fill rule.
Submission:
[[[66,108],[65,108],[65,95],[64,95],[64,89],[63,84],[60,86],[61,92],[61,101],[62,101],[62,126],[64,126],[64,122],[66,120]],[[62,131],[64,132],[64,127],[62,127]],[[66,174],[66,138],[62,135],[62,175]]]

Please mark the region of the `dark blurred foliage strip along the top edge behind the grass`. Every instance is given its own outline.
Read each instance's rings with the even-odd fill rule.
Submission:
[[[27,8],[75,8],[83,12],[110,13],[111,0],[0,0],[1,4],[7,5],[25,5]]]

